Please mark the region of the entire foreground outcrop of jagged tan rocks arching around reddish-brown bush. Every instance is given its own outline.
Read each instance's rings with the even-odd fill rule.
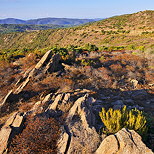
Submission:
[[[41,96],[40,101],[24,114],[61,118],[67,112],[65,122],[61,126],[62,133],[57,142],[58,154],[152,154],[142,142],[141,137],[133,130],[122,129],[106,138],[98,130],[102,127],[98,122],[100,109],[106,106],[109,97],[100,100],[90,96],[91,91],[75,90],[72,93],[50,93]],[[133,100],[120,100],[115,97],[110,105],[133,105]],[[65,109],[64,109],[65,108]],[[66,109],[67,108],[67,109]],[[12,115],[0,131],[0,153],[6,152],[15,134],[21,131],[24,116],[16,112]],[[99,124],[98,124],[99,123]],[[96,131],[97,130],[97,131]]]

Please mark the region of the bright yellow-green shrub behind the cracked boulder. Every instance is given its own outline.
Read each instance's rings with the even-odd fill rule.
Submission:
[[[114,134],[122,128],[127,128],[145,135],[148,129],[144,113],[137,109],[127,110],[126,106],[122,110],[110,108],[106,111],[102,108],[99,116],[105,125],[103,132],[106,134]]]

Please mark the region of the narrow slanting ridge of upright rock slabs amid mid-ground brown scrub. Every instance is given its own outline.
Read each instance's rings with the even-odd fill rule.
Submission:
[[[32,78],[36,79],[38,76],[40,78],[47,72],[52,73],[57,70],[59,60],[59,54],[52,55],[51,50],[46,52],[46,54],[41,58],[41,60],[36,64],[34,68],[29,68],[23,74],[23,76],[21,76],[21,78],[15,84],[16,87],[13,90],[10,90],[3,101],[0,103],[0,108],[9,100],[10,96],[21,93]]]

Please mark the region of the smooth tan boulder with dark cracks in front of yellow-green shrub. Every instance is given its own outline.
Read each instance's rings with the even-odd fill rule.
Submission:
[[[115,135],[106,137],[96,154],[153,154],[142,142],[141,137],[134,130],[123,128]]]

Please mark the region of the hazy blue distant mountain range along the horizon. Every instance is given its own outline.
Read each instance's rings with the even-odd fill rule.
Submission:
[[[0,19],[0,24],[24,24],[24,25],[80,25],[101,19],[71,19],[71,18],[39,18],[21,20],[15,18]]]

